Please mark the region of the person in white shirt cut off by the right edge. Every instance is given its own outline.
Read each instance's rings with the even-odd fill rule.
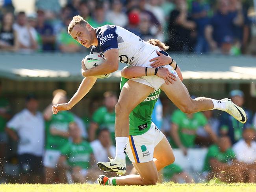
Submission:
[[[233,146],[237,161],[245,168],[243,174],[247,178],[246,182],[250,183],[256,183],[256,142],[254,138],[254,129],[244,129],[243,138]]]

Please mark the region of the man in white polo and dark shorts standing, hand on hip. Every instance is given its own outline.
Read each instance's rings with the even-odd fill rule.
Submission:
[[[25,109],[7,122],[6,133],[18,142],[20,183],[42,183],[45,122],[43,115],[37,111],[35,95],[28,95],[25,105]]]

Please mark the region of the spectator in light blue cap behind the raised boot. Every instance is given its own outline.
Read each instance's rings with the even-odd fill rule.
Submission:
[[[233,103],[238,105],[239,107],[243,107],[244,104],[244,93],[241,90],[232,90],[230,92],[230,98]],[[243,107],[244,109],[244,107]],[[230,137],[232,144],[236,143],[239,139],[242,138],[243,129],[251,126],[252,117],[251,112],[245,109],[245,113],[247,115],[246,124],[242,124],[237,121],[234,117],[229,114],[222,113],[220,117],[220,126],[219,126],[219,134],[227,135]]]

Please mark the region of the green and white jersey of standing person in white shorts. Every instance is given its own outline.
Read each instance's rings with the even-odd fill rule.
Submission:
[[[69,111],[59,111],[58,114],[52,115],[52,119],[46,123],[46,149],[60,150],[68,142],[67,137],[52,135],[50,129],[55,128],[63,132],[68,132],[71,122],[74,122],[74,115]]]

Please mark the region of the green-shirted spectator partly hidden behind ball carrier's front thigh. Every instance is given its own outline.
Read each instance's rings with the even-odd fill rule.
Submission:
[[[115,104],[117,104],[117,96],[113,92],[104,93],[104,105],[93,113],[92,122],[89,128],[89,141],[96,138],[96,130],[98,128],[107,128],[110,132],[113,144],[115,144]]]

